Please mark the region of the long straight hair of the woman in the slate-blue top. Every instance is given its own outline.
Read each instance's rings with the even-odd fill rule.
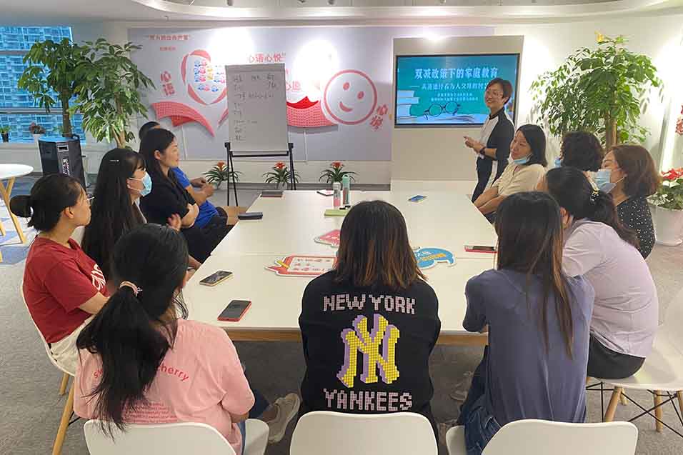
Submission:
[[[562,216],[551,196],[539,191],[513,194],[498,207],[498,269],[527,276],[527,289],[533,276],[541,281],[543,301],[539,306],[539,326],[549,350],[548,305],[554,295],[559,331],[567,356],[572,358],[574,322],[567,276],[562,272]],[[528,296],[528,292],[527,292]]]

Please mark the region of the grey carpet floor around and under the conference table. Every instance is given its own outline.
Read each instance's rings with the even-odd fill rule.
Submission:
[[[246,202],[253,201],[257,194],[258,191],[240,191],[240,204],[248,205]],[[217,201],[224,201],[224,198],[224,191],[214,196]],[[4,206],[0,206],[0,217],[6,218]],[[8,230],[14,229],[9,221],[4,225]],[[25,251],[25,247],[15,241],[11,246],[2,246],[4,256],[10,255],[10,248]],[[16,260],[17,255],[15,253],[12,257]],[[23,254],[19,254],[19,260],[0,264],[0,454],[49,454],[64,407],[64,397],[57,394],[61,373],[46,358],[36,329],[19,297],[23,258]],[[683,288],[683,246],[655,246],[648,264],[659,291],[660,319],[665,321],[665,310],[669,305],[683,304],[671,301]],[[304,370],[299,344],[242,342],[236,345],[247,366],[251,385],[267,398],[272,400],[298,391]],[[481,356],[482,349],[478,348],[437,346],[430,362],[435,389],[432,407],[437,420],[457,416],[457,404],[448,395],[464,372],[477,366]],[[642,404],[652,406],[652,397],[647,392],[632,393],[632,396]],[[605,394],[605,400],[609,400],[609,394]],[[617,419],[629,419],[636,414],[639,410],[634,405],[620,405]],[[590,392],[589,421],[600,421],[600,415],[599,393]],[[683,432],[671,406],[665,409],[664,420]],[[666,429],[663,433],[654,431],[652,418],[646,416],[636,424],[639,429],[637,454],[673,455],[683,452],[683,439]],[[83,421],[69,427],[63,454],[88,454],[82,427]],[[293,429],[294,424],[291,424],[283,441],[269,446],[266,454],[288,454]],[[439,453],[447,453],[444,446],[439,446]]]

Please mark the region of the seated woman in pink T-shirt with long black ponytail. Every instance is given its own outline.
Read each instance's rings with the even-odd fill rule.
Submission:
[[[242,422],[261,401],[257,414],[271,434],[284,434],[298,397],[266,409],[225,331],[184,319],[187,246],[181,234],[158,224],[137,226],[116,243],[111,266],[116,292],[78,337],[76,414],[104,421],[105,430],[201,422],[240,454]]]

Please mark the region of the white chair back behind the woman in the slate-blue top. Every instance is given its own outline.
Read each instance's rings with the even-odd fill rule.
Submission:
[[[483,455],[634,455],[638,429],[629,422],[566,424],[518,420],[504,425]],[[465,455],[464,426],[446,434],[449,455]]]

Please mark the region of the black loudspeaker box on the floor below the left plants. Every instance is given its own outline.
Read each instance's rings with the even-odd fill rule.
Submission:
[[[81,139],[73,134],[71,137],[46,137],[38,141],[40,164],[43,175],[66,174],[81,182],[85,188],[83,159],[81,158]]]

